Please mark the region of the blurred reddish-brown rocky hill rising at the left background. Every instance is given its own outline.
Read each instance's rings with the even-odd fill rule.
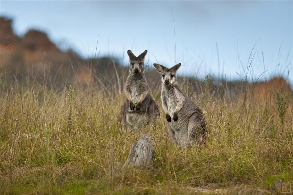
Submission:
[[[73,51],[62,52],[45,32],[29,30],[18,37],[11,24],[11,19],[1,17],[1,74],[16,75],[18,79],[30,75],[38,81],[44,80],[47,74],[52,81],[57,73],[64,81],[88,81],[84,76],[90,71],[88,61]],[[80,76],[74,78],[74,72]],[[48,79],[47,85],[51,81]]]

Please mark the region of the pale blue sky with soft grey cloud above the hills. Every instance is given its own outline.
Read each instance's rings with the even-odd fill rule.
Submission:
[[[124,57],[127,64],[128,49],[148,49],[148,66],[171,67],[176,57],[181,74],[201,78],[239,78],[255,45],[249,78],[289,74],[292,83],[292,2],[1,1],[1,16],[13,18],[18,35],[45,31],[59,47],[84,57],[95,55],[99,36],[100,57]]]

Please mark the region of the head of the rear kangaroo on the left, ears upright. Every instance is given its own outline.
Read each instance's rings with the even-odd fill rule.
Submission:
[[[127,51],[127,54],[130,61],[130,73],[142,73],[144,71],[144,57],[147,54],[147,50],[142,52],[138,57],[136,57],[130,50]]]

